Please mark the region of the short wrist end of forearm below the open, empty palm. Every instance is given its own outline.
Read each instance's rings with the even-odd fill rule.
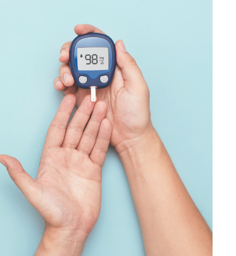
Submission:
[[[46,228],[35,256],[80,256],[87,237],[77,230]]]

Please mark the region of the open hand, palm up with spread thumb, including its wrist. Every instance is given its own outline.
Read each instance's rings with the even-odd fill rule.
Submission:
[[[0,155],[45,221],[36,256],[81,255],[100,214],[101,167],[111,137],[111,122],[104,119],[107,104],[85,97],[66,128],[75,103],[75,95],[63,99],[48,130],[36,180],[15,158]]]

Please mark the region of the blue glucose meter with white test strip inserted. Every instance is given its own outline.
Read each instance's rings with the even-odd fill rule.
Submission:
[[[91,89],[96,101],[96,89],[109,86],[116,69],[116,48],[112,39],[100,33],[77,36],[70,45],[70,70],[76,85]]]

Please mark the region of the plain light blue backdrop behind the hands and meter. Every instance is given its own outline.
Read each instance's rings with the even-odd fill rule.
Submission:
[[[37,175],[63,93],[59,51],[90,23],[123,39],[151,92],[152,121],[212,228],[212,0],[0,0],[0,154]],[[114,148],[103,167],[101,215],[83,256],[144,256],[129,184]],[[0,255],[33,255],[39,213],[0,166]]]

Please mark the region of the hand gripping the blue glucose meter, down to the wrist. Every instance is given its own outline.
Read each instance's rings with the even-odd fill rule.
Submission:
[[[89,32],[103,33],[91,25],[77,25],[75,32],[77,35]],[[74,93],[76,104],[79,106],[85,95],[90,94],[90,90],[78,88],[74,84],[68,64],[70,44],[71,42],[65,43],[61,48],[61,52],[65,50],[63,54],[66,54],[59,58],[63,64],[59,69],[60,76],[55,78],[53,84],[57,90],[65,94]],[[104,100],[108,105],[106,118],[112,123],[113,147],[117,147],[125,140],[138,137],[152,128],[147,83],[135,60],[126,52],[123,41],[117,41],[115,46],[118,65],[112,83],[107,88],[96,90],[98,100]],[[65,74],[70,76],[67,83],[64,80]]]

